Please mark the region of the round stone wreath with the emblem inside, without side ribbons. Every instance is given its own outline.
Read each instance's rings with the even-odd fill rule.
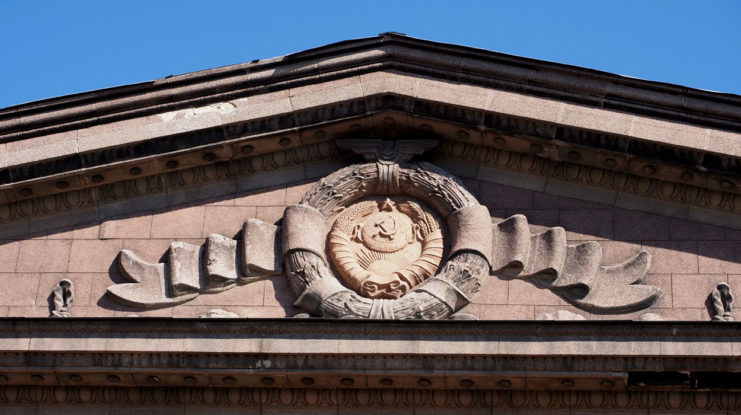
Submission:
[[[350,166],[286,209],[286,275],[311,315],[446,318],[489,274],[490,228],[487,209],[431,164]]]

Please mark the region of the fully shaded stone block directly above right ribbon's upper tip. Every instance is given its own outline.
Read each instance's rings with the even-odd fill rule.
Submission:
[[[615,210],[615,239],[661,241],[670,239],[671,218],[634,210]]]

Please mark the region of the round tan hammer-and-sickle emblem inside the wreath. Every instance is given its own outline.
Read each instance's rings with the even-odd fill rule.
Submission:
[[[343,280],[358,294],[400,298],[440,266],[440,228],[436,215],[418,202],[365,200],[335,219],[329,255]]]

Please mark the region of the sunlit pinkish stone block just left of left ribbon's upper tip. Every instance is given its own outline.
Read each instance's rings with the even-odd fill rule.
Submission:
[[[69,272],[108,272],[115,269],[115,260],[123,249],[120,239],[72,241]]]

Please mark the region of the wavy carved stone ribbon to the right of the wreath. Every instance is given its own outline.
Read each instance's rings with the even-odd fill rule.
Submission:
[[[492,237],[492,271],[509,277],[530,277],[537,285],[585,310],[634,311],[662,296],[658,288],[638,284],[651,265],[646,251],[620,264],[603,266],[599,243],[568,245],[561,227],[531,234],[523,215],[493,225]]]

